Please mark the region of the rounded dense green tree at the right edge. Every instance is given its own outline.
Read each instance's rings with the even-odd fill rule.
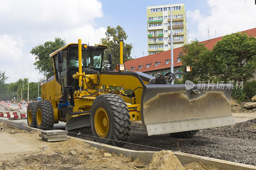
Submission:
[[[242,82],[253,78],[256,70],[256,38],[247,33],[222,37],[212,49],[215,75],[223,80]]]

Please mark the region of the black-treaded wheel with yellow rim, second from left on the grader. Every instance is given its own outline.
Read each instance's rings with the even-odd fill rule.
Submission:
[[[41,114],[39,114],[39,111],[41,112]],[[54,112],[52,103],[49,100],[38,101],[36,105],[36,128],[42,130],[52,130],[53,124]]]

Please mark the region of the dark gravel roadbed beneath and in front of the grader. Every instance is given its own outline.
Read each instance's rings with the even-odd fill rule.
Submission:
[[[129,143],[123,148],[140,151],[160,151],[167,149],[178,151],[178,138],[167,134],[148,136],[139,122],[132,122],[132,130],[128,138]],[[75,133],[81,132],[80,135]],[[93,140],[91,128],[78,128],[69,130],[68,135]],[[256,166],[256,119],[236,123],[236,125],[202,129],[196,136],[179,140],[181,152],[223,159]],[[156,148],[144,147],[146,145]]]

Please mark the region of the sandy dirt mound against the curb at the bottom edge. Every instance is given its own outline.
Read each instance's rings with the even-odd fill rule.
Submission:
[[[154,153],[149,164],[149,169],[183,170],[184,167],[181,165],[179,159],[174,156],[172,151],[162,150]]]

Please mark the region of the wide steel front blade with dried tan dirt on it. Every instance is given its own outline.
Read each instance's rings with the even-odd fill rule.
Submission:
[[[232,86],[232,85],[231,85]],[[150,135],[234,125],[230,97],[232,88],[222,84],[144,85],[141,121]],[[233,86],[232,86],[233,87]]]

